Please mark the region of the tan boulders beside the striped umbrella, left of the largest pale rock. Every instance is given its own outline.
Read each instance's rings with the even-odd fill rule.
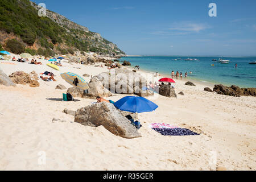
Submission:
[[[112,93],[106,89],[100,81],[97,82],[89,82],[88,92],[78,88],[77,86],[73,86],[67,90],[67,93],[71,94],[73,97],[81,97],[81,98],[96,98],[100,97],[110,97]]]

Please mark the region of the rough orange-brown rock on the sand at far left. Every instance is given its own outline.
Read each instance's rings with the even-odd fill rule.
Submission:
[[[9,77],[15,84],[29,84],[31,87],[37,87],[40,85],[38,81],[32,80],[28,73],[22,71],[14,72]]]

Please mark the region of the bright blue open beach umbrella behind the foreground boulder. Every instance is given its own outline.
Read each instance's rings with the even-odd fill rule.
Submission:
[[[114,103],[117,109],[129,111],[131,113],[151,112],[158,108],[154,102],[147,100],[144,97],[127,96]]]

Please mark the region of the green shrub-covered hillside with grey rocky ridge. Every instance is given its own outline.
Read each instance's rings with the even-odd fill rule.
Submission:
[[[125,55],[116,44],[63,15],[46,10],[46,16],[39,17],[42,7],[29,0],[1,0],[0,7],[0,31],[13,34],[27,48],[40,49],[41,54],[91,51],[104,56]],[[5,42],[0,39],[1,44]]]

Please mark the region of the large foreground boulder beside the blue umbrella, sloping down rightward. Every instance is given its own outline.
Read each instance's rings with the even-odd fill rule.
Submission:
[[[75,122],[86,126],[104,126],[114,135],[122,138],[141,137],[135,126],[123,117],[113,104],[101,102],[76,110]]]

